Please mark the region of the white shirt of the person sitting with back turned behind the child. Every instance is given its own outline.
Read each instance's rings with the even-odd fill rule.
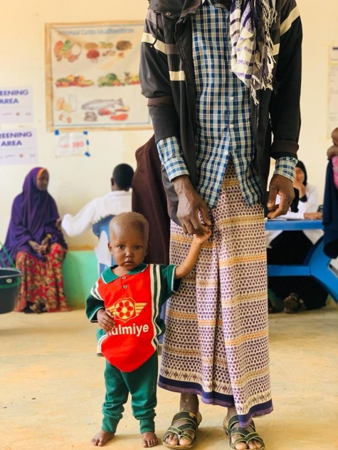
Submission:
[[[132,210],[132,191],[111,191],[103,197],[94,198],[76,215],[65,214],[61,226],[69,237],[78,236],[107,215],[127,213]],[[110,266],[111,257],[107,247],[107,235],[102,232],[95,247],[97,262]]]

